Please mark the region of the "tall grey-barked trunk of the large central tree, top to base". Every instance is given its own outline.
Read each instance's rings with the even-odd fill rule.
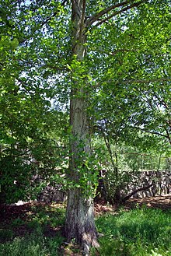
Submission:
[[[86,57],[86,28],[85,8],[83,0],[72,1],[72,59],[82,61]],[[78,70],[72,70],[76,76]],[[85,75],[85,74],[84,74]],[[73,184],[81,184],[84,175],[89,178],[89,170],[84,161],[90,156],[89,121],[87,117],[86,79],[82,72],[79,77],[72,79],[72,93],[70,100],[70,124],[72,136],[70,139],[70,163],[68,177]],[[83,175],[84,174],[84,175]],[[87,187],[86,187],[87,185]],[[78,186],[79,187],[79,186]],[[82,245],[86,255],[91,246],[98,246],[97,233],[94,223],[93,199],[89,193],[90,181],[84,183],[84,188],[71,188],[68,191],[68,205],[65,222],[65,236],[68,241],[75,241]]]

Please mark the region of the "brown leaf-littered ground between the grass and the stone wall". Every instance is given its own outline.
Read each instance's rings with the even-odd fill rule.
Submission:
[[[80,255],[76,251],[74,254],[70,254],[69,251],[65,252],[65,245],[61,246],[63,242],[65,244],[64,237],[62,236],[62,226],[65,222],[65,206],[65,204],[52,203],[47,205],[40,202],[30,202],[23,205],[0,205],[0,244],[12,241],[14,237],[23,237],[24,239],[26,235],[32,234],[35,230],[37,232],[41,227],[41,229],[43,228],[44,236],[47,237],[48,243],[50,243],[51,239],[54,240],[53,243],[59,243],[57,245],[62,248],[62,255]],[[131,209],[141,209],[143,207],[146,209],[160,209],[164,212],[170,210],[171,195],[129,199],[121,206],[123,212],[129,212]],[[116,216],[118,214],[117,212],[118,209],[115,205],[106,205],[104,202],[95,203],[96,219],[108,214]],[[61,240],[55,241],[57,235],[61,237]],[[51,247],[51,244],[48,246]],[[5,253],[5,255],[8,256],[8,253]],[[37,255],[39,254],[37,253]]]

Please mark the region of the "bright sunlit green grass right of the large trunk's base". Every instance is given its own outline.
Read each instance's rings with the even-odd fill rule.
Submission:
[[[171,211],[132,209],[96,220],[100,256],[171,256]]]

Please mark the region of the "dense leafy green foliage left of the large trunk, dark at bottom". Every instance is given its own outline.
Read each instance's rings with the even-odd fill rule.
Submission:
[[[17,202],[36,198],[41,188],[35,188],[34,175],[47,179],[62,164],[62,126],[68,117],[51,109],[54,89],[37,71],[37,53],[30,47],[32,34],[26,34],[33,6],[10,1],[1,4],[1,202]]]

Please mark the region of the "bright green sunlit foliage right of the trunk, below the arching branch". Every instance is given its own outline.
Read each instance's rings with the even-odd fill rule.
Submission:
[[[168,6],[151,2],[95,27],[88,54],[95,128],[143,149],[159,145],[163,152],[170,144],[170,24],[162,19],[168,13]]]

